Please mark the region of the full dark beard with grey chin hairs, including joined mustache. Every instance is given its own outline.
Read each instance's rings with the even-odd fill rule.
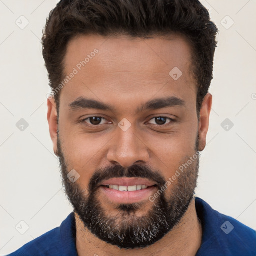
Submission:
[[[197,134],[195,146],[197,158],[180,173],[168,189],[162,191],[161,187],[164,184],[166,186],[167,180],[164,179],[161,172],[142,165],[132,165],[128,168],[113,165],[97,169],[91,176],[87,188],[77,182],[71,182],[67,177],[71,169],[67,167],[68,164],[65,161],[58,137],[57,155],[59,156],[65,193],[74,211],[83,222],[84,228],[99,239],[119,248],[144,248],[160,240],[179,223],[194,197],[199,169],[198,139]],[[185,159],[188,160],[189,156],[186,156]],[[102,207],[97,191],[103,180],[114,177],[147,178],[155,182],[157,191],[161,192],[147,213],[142,216],[138,216],[136,213],[143,209],[144,201],[111,204],[118,212],[113,214]],[[167,191],[169,191],[169,195],[166,194]]]

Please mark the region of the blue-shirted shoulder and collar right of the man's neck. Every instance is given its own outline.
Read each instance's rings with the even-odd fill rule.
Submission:
[[[203,229],[202,244],[197,256],[205,252],[207,255],[256,255],[255,230],[212,209],[198,197],[196,211]]]

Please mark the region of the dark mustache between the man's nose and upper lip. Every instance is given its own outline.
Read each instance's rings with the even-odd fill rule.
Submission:
[[[103,180],[121,177],[146,178],[156,182],[159,188],[166,183],[163,175],[157,169],[151,170],[147,166],[136,164],[128,168],[124,168],[121,165],[114,165],[103,169],[97,169],[89,180],[88,190],[92,192],[95,191]]]

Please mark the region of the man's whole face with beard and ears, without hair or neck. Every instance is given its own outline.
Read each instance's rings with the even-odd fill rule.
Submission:
[[[190,46],[178,35],[79,36],[64,63],[74,75],[58,124],[48,100],[48,121],[74,211],[105,242],[153,244],[186,212],[205,147],[211,95],[198,122]]]

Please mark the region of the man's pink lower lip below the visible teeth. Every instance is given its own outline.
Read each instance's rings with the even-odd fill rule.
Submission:
[[[145,189],[136,191],[119,191],[106,186],[100,186],[102,191],[110,201],[115,203],[134,203],[141,202],[143,200],[149,200],[149,196],[157,189],[155,186],[149,186]]]

